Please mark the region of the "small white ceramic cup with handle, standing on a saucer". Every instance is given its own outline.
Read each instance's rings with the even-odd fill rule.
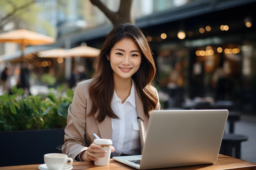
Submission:
[[[47,153],[44,155],[44,162],[49,170],[62,170],[71,168],[73,159],[62,153]]]

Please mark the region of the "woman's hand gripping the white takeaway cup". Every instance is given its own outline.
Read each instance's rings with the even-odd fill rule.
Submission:
[[[98,159],[95,157],[105,157],[106,150],[102,150],[102,147],[92,143],[87,150],[82,152],[81,160],[82,161],[97,161]],[[114,146],[111,146],[111,152],[114,152]]]

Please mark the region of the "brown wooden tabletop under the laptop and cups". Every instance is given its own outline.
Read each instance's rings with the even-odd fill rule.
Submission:
[[[39,164],[4,166],[0,170],[38,170]],[[74,162],[73,170],[135,170],[129,166],[110,159],[109,166],[94,166],[92,162]],[[218,160],[214,164],[186,166],[176,168],[164,168],[161,170],[256,170],[256,164],[241,159],[236,159],[219,154]]]

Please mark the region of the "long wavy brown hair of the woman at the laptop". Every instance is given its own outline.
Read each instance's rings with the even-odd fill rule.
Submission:
[[[114,94],[114,79],[107,56],[110,56],[110,51],[115,43],[123,38],[132,38],[142,54],[140,67],[132,75],[132,79],[143,102],[144,113],[149,116],[150,111],[155,110],[158,103],[157,96],[150,88],[150,84],[156,75],[156,67],[148,41],[138,27],[129,23],[119,24],[110,31],[103,43],[99,56],[93,63],[95,73],[89,89],[92,99],[92,110],[89,115],[94,115],[99,111],[97,117],[99,122],[102,122],[106,116],[115,119],[119,118],[110,106]]]

